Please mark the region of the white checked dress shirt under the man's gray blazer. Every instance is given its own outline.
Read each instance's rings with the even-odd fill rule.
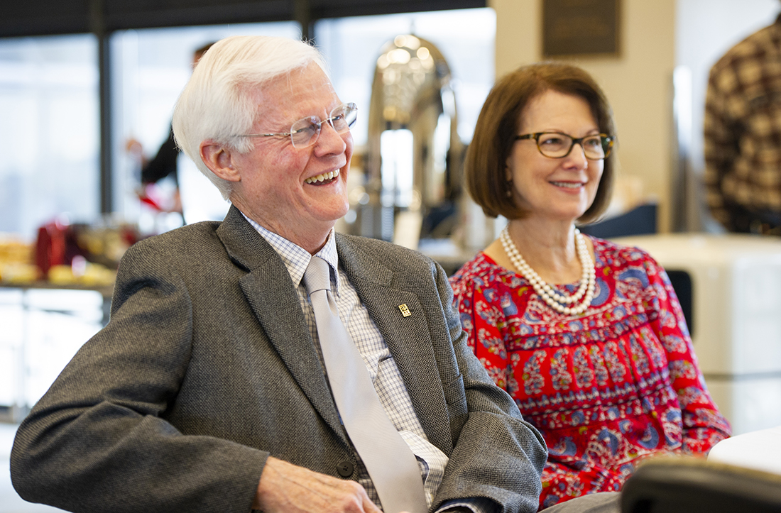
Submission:
[[[247,216],[244,216],[244,219],[247,219],[255,227],[255,230],[258,230],[258,233],[280,255],[287,267],[291,280],[293,280],[296,286],[298,302],[301,305],[301,310],[304,312],[309,333],[312,334],[312,340],[316,342],[315,347],[320,358],[320,364],[323,365],[325,370],[326,365],[323,362],[323,352],[320,349],[319,338],[317,337],[315,312],[312,310],[312,302],[309,300],[309,295],[303,283],[304,272],[309,265],[312,255],[309,255],[308,251],[290,240],[266,230]],[[323,246],[316,256],[323,258],[330,265],[333,300],[337,304],[339,317],[344,322],[345,329],[355,342],[366,363],[369,377],[374,383],[377,395],[380,396],[380,403],[382,403],[385,413],[418,460],[420,473],[424,479],[423,490],[426,493],[426,503],[431,507],[433,497],[442,483],[444,468],[448,465],[448,456],[426,438],[423,426],[420,425],[415,409],[412,407],[412,399],[409,397],[404,381],[401,379],[401,373],[398,371],[391,351],[385,344],[382,333],[380,333],[380,330],[369,316],[366,307],[362,305],[355,288],[352,287],[348,280],[347,274],[339,267],[333,230],[326,241],[326,245]],[[355,454],[358,454],[355,449],[353,451]],[[377,496],[372,479],[369,477],[369,472],[366,471],[366,466],[363,465],[360,458],[358,458],[358,483],[361,483],[364,489],[366,489],[366,493],[368,493],[374,504],[380,506],[380,497]],[[445,511],[448,508],[455,507],[469,508],[475,513],[489,513],[494,511],[495,504],[487,499],[470,498],[462,501],[449,501],[443,504],[437,511]]]

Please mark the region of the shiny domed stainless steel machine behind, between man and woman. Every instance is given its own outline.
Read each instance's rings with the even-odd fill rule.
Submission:
[[[449,237],[462,192],[456,110],[450,67],[436,46],[412,34],[383,45],[354,233],[410,248],[421,238]]]

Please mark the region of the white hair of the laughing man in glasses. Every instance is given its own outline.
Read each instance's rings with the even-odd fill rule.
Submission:
[[[312,62],[327,74],[316,48],[296,39],[266,36],[226,37],[198,61],[173,110],[173,135],[223,198],[230,196],[232,183],[201,161],[201,142],[211,140],[240,153],[251,151],[251,137],[239,136],[255,123],[259,88]]]

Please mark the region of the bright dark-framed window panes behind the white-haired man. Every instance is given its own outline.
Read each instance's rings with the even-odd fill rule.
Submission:
[[[451,66],[458,134],[473,126],[494,81],[492,9],[419,12],[319,20],[314,41],[330,65],[337,92],[358,103],[358,152],[376,58],[398,34],[414,33],[440,48]],[[112,205],[119,219],[143,222],[137,197],[138,141],[152,157],[168,137],[177,96],[195,48],[234,34],[300,37],[298,23],[121,30],[110,39],[112,62]],[[34,240],[56,216],[100,221],[98,41],[91,34],[0,39],[0,233]],[[166,184],[162,186],[166,191]]]

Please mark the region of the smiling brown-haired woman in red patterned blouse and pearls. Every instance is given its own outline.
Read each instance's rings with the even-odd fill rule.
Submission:
[[[548,444],[540,508],[619,490],[641,458],[729,436],[664,269],[576,229],[608,205],[614,143],[594,80],[543,63],[494,86],[467,154],[470,194],[509,223],[452,276],[455,305]]]

